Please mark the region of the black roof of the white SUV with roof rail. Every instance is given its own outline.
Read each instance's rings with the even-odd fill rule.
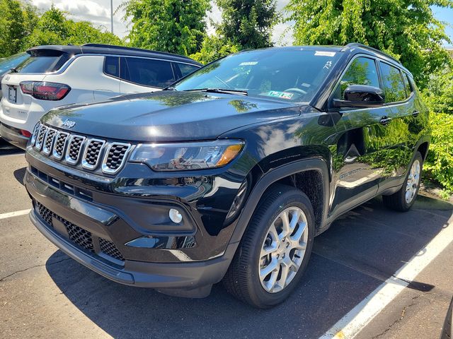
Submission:
[[[43,45],[28,49],[28,54],[42,52],[64,52],[67,54],[119,54],[131,57],[154,57],[159,59],[168,59],[171,61],[181,61],[189,64],[200,65],[197,61],[178,54],[172,54],[160,51],[151,51],[149,49],[140,49],[134,47],[115,46],[111,44],[83,44],[76,45]]]

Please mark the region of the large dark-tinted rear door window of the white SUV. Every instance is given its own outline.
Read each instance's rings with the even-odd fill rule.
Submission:
[[[176,79],[169,61],[122,58],[121,78],[139,85],[164,88]]]

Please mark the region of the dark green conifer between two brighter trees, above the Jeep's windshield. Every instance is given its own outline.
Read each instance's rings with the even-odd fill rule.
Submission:
[[[277,22],[275,0],[217,0],[222,23],[217,32],[241,49],[273,45],[272,28]]]

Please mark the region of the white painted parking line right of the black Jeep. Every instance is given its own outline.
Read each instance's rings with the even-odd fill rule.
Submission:
[[[372,319],[379,314],[395,297],[403,291],[423,268],[440,254],[453,241],[453,217],[428,245],[415,254],[410,261],[371,292],[348,314],[343,316],[319,339],[354,338]]]

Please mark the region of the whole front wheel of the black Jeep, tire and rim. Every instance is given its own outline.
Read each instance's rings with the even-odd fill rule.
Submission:
[[[283,227],[285,215],[288,217],[286,231]],[[275,228],[271,230],[273,226]],[[280,239],[282,234],[287,236]],[[314,213],[309,198],[292,186],[273,186],[258,203],[224,276],[226,290],[237,299],[260,309],[280,304],[302,278],[313,239]],[[261,256],[264,251],[273,252]],[[266,278],[265,270],[275,267],[276,262],[275,270]],[[283,278],[284,272],[287,279]]]

